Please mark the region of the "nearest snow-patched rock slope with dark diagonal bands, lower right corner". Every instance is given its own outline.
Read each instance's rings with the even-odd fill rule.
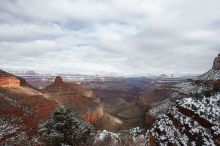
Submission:
[[[219,101],[219,95],[181,99],[158,116],[149,136],[153,134],[158,145],[219,145]]]

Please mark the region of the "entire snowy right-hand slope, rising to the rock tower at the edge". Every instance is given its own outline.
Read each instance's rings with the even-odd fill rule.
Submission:
[[[178,100],[158,115],[147,133],[148,144],[220,145],[219,58],[211,70],[174,88],[172,97]]]

